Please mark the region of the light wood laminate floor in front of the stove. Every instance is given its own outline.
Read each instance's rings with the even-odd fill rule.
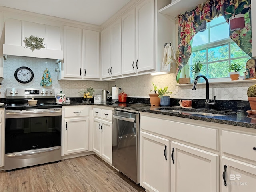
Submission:
[[[96,155],[0,171],[0,192],[144,192]]]

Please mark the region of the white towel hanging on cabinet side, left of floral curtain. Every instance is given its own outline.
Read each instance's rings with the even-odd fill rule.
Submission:
[[[176,66],[175,52],[171,44],[166,44],[164,47],[164,58],[162,62],[162,72],[169,72],[172,68],[171,64]]]

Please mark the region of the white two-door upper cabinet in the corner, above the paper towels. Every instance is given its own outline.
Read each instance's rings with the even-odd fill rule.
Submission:
[[[115,76],[121,76],[120,19],[101,32],[101,77]]]

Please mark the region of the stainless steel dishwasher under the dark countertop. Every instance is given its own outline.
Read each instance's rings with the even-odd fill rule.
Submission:
[[[115,109],[112,112],[113,166],[136,184],[140,183],[139,113]]]

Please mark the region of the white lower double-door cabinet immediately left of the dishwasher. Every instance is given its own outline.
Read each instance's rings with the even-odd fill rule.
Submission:
[[[112,164],[112,110],[93,109],[92,151]]]

